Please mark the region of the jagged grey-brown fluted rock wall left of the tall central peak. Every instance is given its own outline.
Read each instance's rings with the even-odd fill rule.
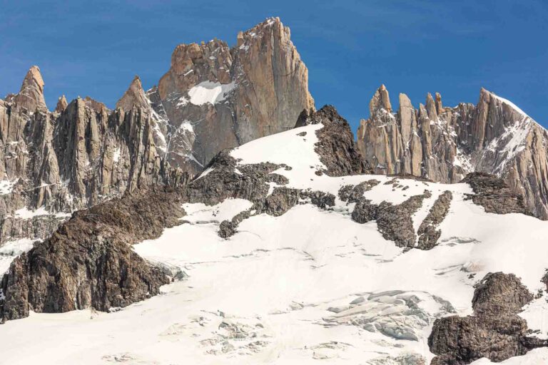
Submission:
[[[60,212],[188,180],[158,153],[148,108],[108,110],[91,98],[67,105],[61,97],[50,113],[43,91],[32,67],[21,92],[0,100],[0,245],[48,237],[67,217]]]

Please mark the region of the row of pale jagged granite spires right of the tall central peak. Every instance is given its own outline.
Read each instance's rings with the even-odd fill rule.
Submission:
[[[497,175],[523,195],[527,210],[548,219],[548,132],[504,98],[482,88],[474,106],[442,105],[427,95],[418,109],[405,94],[392,111],[385,86],[361,120],[357,145],[375,173],[458,183],[468,173]]]

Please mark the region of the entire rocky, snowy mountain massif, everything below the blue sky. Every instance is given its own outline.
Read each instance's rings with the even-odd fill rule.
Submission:
[[[548,132],[511,101],[382,85],[354,135],[278,18],[113,110],[45,87],[0,99],[0,363],[548,364]]]

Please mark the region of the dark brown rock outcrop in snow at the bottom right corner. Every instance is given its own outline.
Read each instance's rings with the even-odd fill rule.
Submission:
[[[546,340],[527,336],[527,322],[517,313],[533,295],[514,274],[487,274],[477,284],[467,317],[436,319],[428,338],[437,356],[432,365],[463,365],[486,357],[499,362],[548,346]]]

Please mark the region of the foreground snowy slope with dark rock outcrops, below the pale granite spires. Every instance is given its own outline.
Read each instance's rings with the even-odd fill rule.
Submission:
[[[188,185],[76,212],[16,258],[2,358],[547,361],[548,227],[504,180],[364,174],[334,108],[298,125],[219,153]]]

